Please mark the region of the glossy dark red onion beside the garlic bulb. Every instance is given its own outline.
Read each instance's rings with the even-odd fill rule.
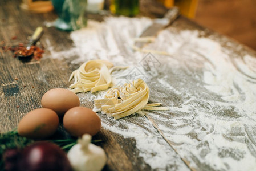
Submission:
[[[39,141],[22,151],[19,170],[26,171],[71,171],[66,153],[58,145]]]

